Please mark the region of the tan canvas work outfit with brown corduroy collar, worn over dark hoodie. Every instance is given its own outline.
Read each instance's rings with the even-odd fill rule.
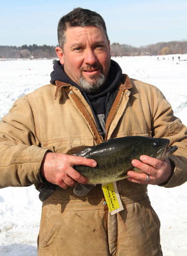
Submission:
[[[170,157],[175,169],[165,187],[186,181],[186,127],[156,87],[124,75],[105,140],[127,135],[170,139],[178,150]],[[65,153],[102,141],[79,89],[58,81],[41,87],[17,100],[0,123],[0,187],[43,182],[40,167],[47,150]],[[103,204],[100,185],[82,198],[72,188],[57,189],[42,206],[39,255],[161,255],[160,222],[146,185],[128,180],[117,185],[124,210],[113,216]]]

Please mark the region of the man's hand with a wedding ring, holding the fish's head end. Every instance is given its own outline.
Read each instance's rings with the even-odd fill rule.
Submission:
[[[140,169],[142,173],[133,172],[132,170],[128,171],[129,181],[139,184],[159,185],[170,177],[172,167],[168,158],[158,160],[148,155],[141,155],[140,160],[132,160],[132,165]],[[148,182],[146,182],[147,174],[150,178]]]

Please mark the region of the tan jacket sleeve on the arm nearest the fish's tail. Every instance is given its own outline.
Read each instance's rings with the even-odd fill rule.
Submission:
[[[40,147],[32,109],[24,96],[0,122],[0,188],[44,182],[40,168],[46,152]]]

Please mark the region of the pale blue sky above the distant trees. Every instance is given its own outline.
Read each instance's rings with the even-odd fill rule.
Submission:
[[[0,45],[56,46],[59,19],[75,7],[102,15],[111,44],[138,47],[187,40],[186,0],[0,0]]]

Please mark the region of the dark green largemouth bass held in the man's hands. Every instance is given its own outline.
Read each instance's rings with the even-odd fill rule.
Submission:
[[[163,138],[128,136],[110,139],[99,145],[85,147],[84,150],[80,150],[82,147],[70,150],[67,154],[79,155],[97,162],[96,167],[74,165],[74,169],[88,179],[87,184],[75,184],[74,194],[83,196],[89,193],[96,184],[107,184],[125,179],[128,177],[128,170],[140,172],[132,165],[132,160],[140,160],[140,155],[165,159],[177,150],[176,146],[168,147],[169,143],[170,140]],[[54,193],[56,187],[57,185],[49,182],[42,184],[42,187],[36,187],[41,192],[39,199],[46,200]]]

